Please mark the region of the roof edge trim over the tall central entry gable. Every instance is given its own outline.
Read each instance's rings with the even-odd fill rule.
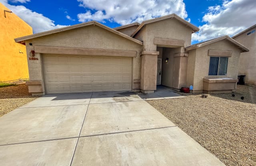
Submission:
[[[165,20],[165,19],[168,19],[168,18],[176,18],[178,21],[182,22],[183,24],[185,24],[186,26],[192,28],[193,32],[198,32],[199,31],[199,28],[194,26],[193,24],[191,24],[190,22],[184,20],[183,18],[179,17],[177,14],[169,14],[167,16],[162,16],[162,17],[158,17],[158,18],[153,18],[153,19],[150,19],[150,20],[145,20],[143,21],[140,26],[133,32],[133,34],[131,35],[131,37],[133,37],[144,25],[146,24],[150,24],[152,22],[157,22],[157,21],[160,21],[160,20]]]

